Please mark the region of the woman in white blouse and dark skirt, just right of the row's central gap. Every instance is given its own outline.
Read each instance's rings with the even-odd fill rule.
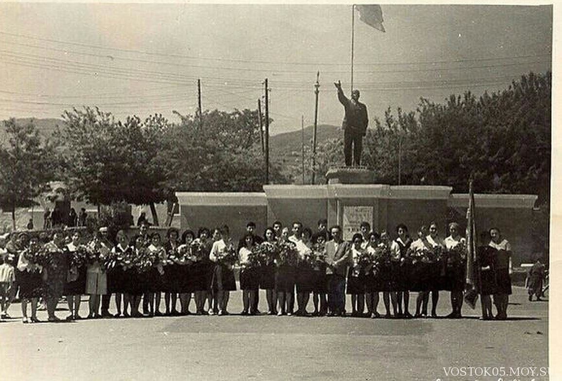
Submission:
[[[258,267],[252,263],[252,249],[254,245],[253,234],[246,234],[242,237],[244,246],[238,252],[238,261],[240,263],[240,288],[242,289],[242,305],[243,310],[241,315],[255,315],[256,311],[253,310],[255,305],[256,295],[259,290],[260,278]]]

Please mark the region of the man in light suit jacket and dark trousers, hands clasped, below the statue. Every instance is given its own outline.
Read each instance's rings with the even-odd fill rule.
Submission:
[[[341,226],[330,228],[332,241],[326,243],[326,278],[328,282],[328,316],[345,315],[346,270],[350,243],[343,241]]]

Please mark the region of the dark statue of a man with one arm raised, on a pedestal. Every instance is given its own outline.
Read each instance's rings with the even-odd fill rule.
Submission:
[[[367,107],[359,102],[359,90],[351,92],[351,99],[348,99],[342,90],[342,83],[334,83],[338,89],[338,99],[345,108],[346,114],[343,117],[343,153],[346,157],[346,166],[361,165],[361,151],[363,148],[363,137],[367,133],[369,118]],[[353,147],[353,148],[352,148]],[[353,153],[353,160],[351,158]]]

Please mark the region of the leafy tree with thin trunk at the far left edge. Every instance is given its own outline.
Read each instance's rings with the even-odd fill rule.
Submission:
[[[54,147],[42,142],[33,121],[20,125],[10,119],[4,126],[7,142],[0,146],[0,206],[12,212],[15,230],[16,207],[38,205],[34,199],[49,191],[56,159]]]

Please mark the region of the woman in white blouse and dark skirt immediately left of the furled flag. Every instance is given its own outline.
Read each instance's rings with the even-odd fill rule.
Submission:
[[[466,239],[460,236],[459,224],[449,224],[450,235],[445,238],[445,284],[443,289],[451,291],[452,312],[450,319],[460,319],[463,309],[463,292],[466,280]]]

